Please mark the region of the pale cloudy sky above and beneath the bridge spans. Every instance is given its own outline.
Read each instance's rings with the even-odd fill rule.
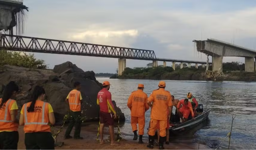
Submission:
[[[29,7],[24,36],[154,50],[156,57],[198,61],[207,57],[196,51],[192,40],[215,38],[256,50],[255,0],[24,0],[23,4]],[[35,56],[49,68],[66,61],[95,73],[115,73],[118,67],[117,58]],[[244,58],[223,58],[231,61]],[[126,67],[147,63],[151,61],[126,60]]]

